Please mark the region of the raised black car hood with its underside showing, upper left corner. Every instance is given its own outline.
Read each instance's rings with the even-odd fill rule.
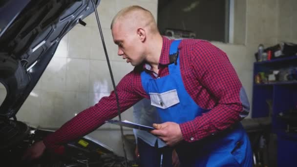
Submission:
[[[92,12],[91,0],[1,0],[0,83],[7,95],[0,118],[15,117],[60,40]]]

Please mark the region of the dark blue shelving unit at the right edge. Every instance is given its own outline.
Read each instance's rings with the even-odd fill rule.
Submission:
[[[286,133],[286,121],[284,117],[282,119],[278,117],[280,112],[287,112],[297,107],[297,81],[274,81],[256,84],[255,76],[259,72],[271,74],[274,70],[291,67],[297,67],[297,56],[254,63],[252,118],[272,116],[271,130],[277,135],[277,166],[279,167],[297,164],[297,158],[295,158],[297,155],[297,149],[295,149],[297,148],[297,133]]]

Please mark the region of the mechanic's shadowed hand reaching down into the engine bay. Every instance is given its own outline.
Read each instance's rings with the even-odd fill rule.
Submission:
[[[36,142],[26,150],[26,152],[22,156],[22,160],[37,159],[42,156],[44,150],[45,145],[43,144],[43,141]]]

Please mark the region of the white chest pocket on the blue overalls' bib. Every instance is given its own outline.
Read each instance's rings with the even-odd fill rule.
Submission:
[[[149,93],[150,103],[159,108],[168,108],[179,103],[176,89],[164,93]]]

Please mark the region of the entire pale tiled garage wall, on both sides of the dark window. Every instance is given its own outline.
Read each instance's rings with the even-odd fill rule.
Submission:
[[[243,3],[246,3],[245,44],[213,44],[228,54],[252,102],[256,48],[259,43],[270,46],[278,41],[297,42],[294,28],[297,27],[297,0],[246,0]],[[133,67],[117,56],[117,47],[109,30],[110,21],[117,11],[132,4],[141,5],[155,17],[157,15],[157,0],[101,0],[98,7],[116,83]],[[77,25],[61,41],[40,82],[21,107],[17,115],[20,120],[44,127],[59,127],[113,89],[94,14],[84,21],[86,27]],[[132,120],[131,109],[123,113],[123,118]],[[110,127],[103,125],[99,129]],[[97,130],[90,135],[123,155],[117,130]]]

